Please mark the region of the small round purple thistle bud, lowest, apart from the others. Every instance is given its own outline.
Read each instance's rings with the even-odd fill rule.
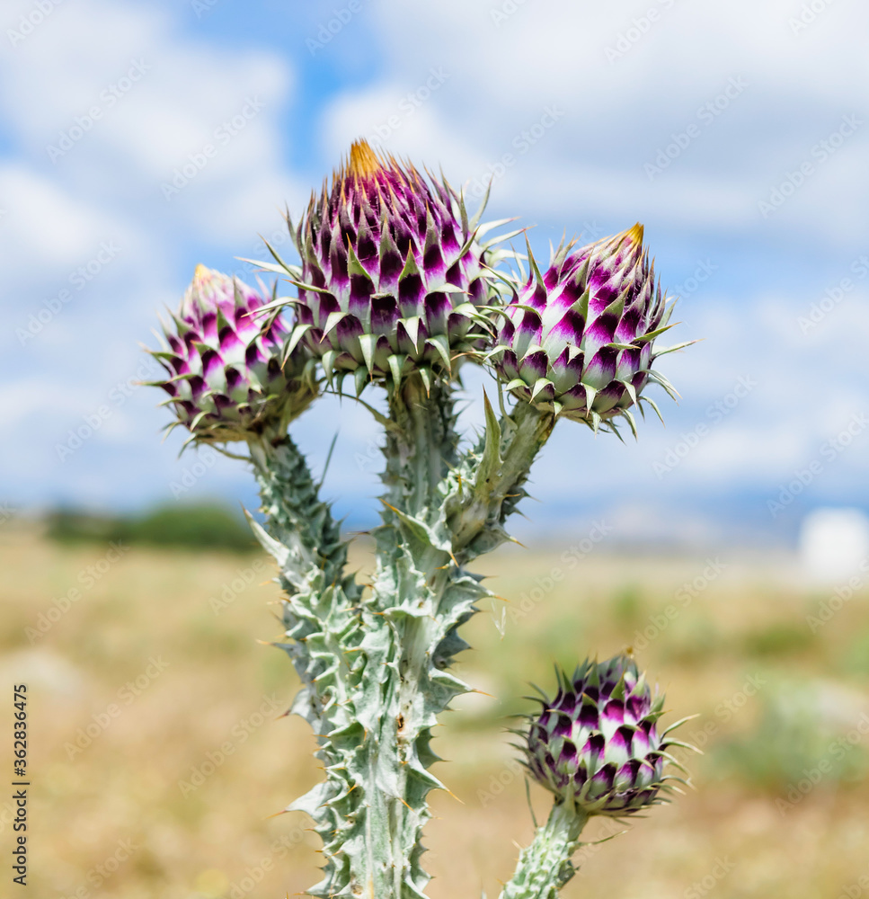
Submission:
[[[540,701],[526,765],[555,797],[584,814],[612,817],[661,802],[664,781],[673,779],[663,778],[664,763],[676,764],[667,749],[684,744],[659,733],[663,697],[652,697],[633,659],[586,660],[572,677],[559,674],[554,698]]]

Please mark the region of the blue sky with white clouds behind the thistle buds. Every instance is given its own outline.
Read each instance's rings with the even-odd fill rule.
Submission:
[[[673,342],[704,338],[662,361],[666,428],[622,446],[559,425],[520,534],[603,517],[623,539],[776,542],[816,506],[869,509],[867,26],[856,0],[10,0],[0,499],[253,505],[244,467],[161,443],[138,343],[196,263],[250,280],[258,233],[289,254],[279,210],[364,136],[471,196],[492,177],[490,214],[539,254],[642,221],[682,295]],[[336,430],[327,492],[364,524],[368,414],[323,400],[296,433],[316,465]]]

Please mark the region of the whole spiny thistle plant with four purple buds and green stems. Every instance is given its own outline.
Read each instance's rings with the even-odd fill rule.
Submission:
[[[155,351],[169,426],[246,458],[260,487],[262,524],[250,521],[283,592],[275,645],[302,682],[291,710],[314,729],[324,766],[287,806],[323,841],[310,895],[424,895],[427,796],[442,787],[431,728],[471,689],[451,670],[466,648],[459,632],[492,596],[468,565],[510,539],[506,521],[556,423],[619,437],[627,423],[635,435],[634,412],[658,413],[647,388],[673,395],[654,366],[678,349],[656,345],[672,303],[642,227],[562,245],[541,271],[529,247],[508,246],[521,232],[481,223],[483,208],[469,215],[446,180],[358,142],[298,222],[288,216],[299,263],[267,245],[271,260],[257,264],[271,289],[200,266]],[[483,396],[472,441],[457,432],[466,366],[491,371],[499,408]],[[384,433],[365,586],[346,572],[347,544],[289,435],[327,392],[358,398]],[[386,414],[368,404],[374,392]],[[559,674],[519,731],[553,812],[504,897],[557,895],[590,816],[626,817],[674,788],[661,701],[625,655]]]

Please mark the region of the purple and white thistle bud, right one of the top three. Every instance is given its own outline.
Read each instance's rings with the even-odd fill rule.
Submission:
[[[652,348],[668,329],[672,304],[655,282],[643,227],[579,250],[560,247],[545,274],[530,261],[528,282],[506,307],[491,353],[499,377],[520,400],[595,430],[601,422],[615,430],[612,419],[624,415],[635,434],[629,409],[648,381],[675,397],[652,362],[679,349]]]

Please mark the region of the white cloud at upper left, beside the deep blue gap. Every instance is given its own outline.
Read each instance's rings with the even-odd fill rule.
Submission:
[[[142,4],[83,0],[5,54],[0,74],[31,166],[83,209],[123,203],[129,215],[135,198],[152,227],[186,223],[230,244],[300,196],[279,156],[293,78],[273,54],[182,38]]]

